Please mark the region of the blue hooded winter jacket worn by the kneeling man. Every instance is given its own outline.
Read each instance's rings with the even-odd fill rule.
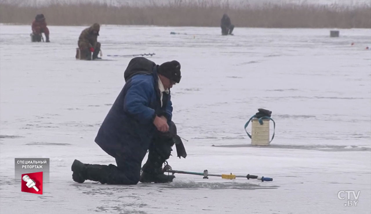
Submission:
[[[109,155],[144,158],[157,129],[156,115],[164,115],[170,124],[173,107],[170,93],[163,94],[162,107],[154,62],[135,57],[129,62],[126,83],[104,119],[95,142]]]

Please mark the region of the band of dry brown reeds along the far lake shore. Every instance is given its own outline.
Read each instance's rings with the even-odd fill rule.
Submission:
[[[310,4],[230,5],[228,1],[181,1],[167,4],[115,4],[99,2],[24,5],[0,2],[0,22],[30,24],[43,13],[51,25],[158,25],[220,26],[223,13],[238,27],[371,28],[370,5],[354,7]]]

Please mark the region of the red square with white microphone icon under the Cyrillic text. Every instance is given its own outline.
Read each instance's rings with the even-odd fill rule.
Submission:
[[[43,194],[43,172],[22,174],[21,191]]]

